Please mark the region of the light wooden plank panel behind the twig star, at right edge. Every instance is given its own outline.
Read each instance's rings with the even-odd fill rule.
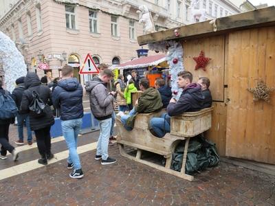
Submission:
[[[275,87],[275,27],[229,34],[226,155],[275,164],[275,92],[254,102],[257,80]]]

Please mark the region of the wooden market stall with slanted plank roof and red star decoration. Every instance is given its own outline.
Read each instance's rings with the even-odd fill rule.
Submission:
[[[192,72],[194,81],[210,78],[214,111],[206,137],[217,144],[221,156],[275,164],[275,7],[225,16],[215,23],[216,32],[205,21],[137,40],[140,45],[179,41],[184,69]],[[201,51],[211,58],[206,71],[195,70],[193,57]]]

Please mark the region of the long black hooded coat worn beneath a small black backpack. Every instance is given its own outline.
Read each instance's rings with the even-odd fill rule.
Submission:
[[[46,128],[54,124],[54,115],[50,109],[49,105],[52,105],[52,91],[46,85],[41,85],[39,76],[34,72],[28,72],[25,77],[25,91],[23,92],[21,111],[23,113],[30,113],[30,128],[32,130],[39,130],[41,128]],[[45,110],[45,115],[42,117],[36,117],[36,115],[30,112],[30,102],[32,102],[32,92],[36,91],[39,97],[45,104],[47,104],[47,109]]]

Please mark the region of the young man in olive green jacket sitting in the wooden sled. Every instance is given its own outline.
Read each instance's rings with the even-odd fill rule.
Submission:
[[[140,80],[140,90],[142,95],[136,102],[136,106],[130,111],[129,115],[122,115],[121,122],[126,130],[132,130],[135,123],[136,113],[153,113],[162,108],[162,98],[153,87],[149,87],[149,80],[142,78]]]

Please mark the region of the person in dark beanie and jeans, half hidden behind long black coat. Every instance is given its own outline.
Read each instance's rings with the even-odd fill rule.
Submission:
[[[23,91],[25,91],[25,77],[21,76],[18,78],[15,83],[17,84],[17,87],[12,91],[12,99],[14,100],[15,104],[17,104],[17,108],[19,113],[17,114],[17,129],[18,129],[18,135],[19,135],[19,140],[14,141],[15,144],[17,145],[23,145],[24,144],[24,137],[23,137],[23,129],[24,129],[24,122],[25,125],[27,126],[27,131],[28,131],[28,144],[31,146],[32,145],[32,130],[30,129],[30,117],[26,113],[22,113],[20,111],[21,107],[21,101],[22,101],[22,95]]]

